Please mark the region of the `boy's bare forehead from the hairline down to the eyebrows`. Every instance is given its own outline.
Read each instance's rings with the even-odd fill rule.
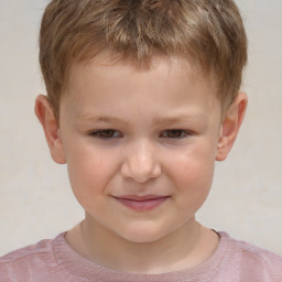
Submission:
[[[76,108],[86,98],[93,104],[111,105],[111,108],[115,106],[112,101],[119,99],[124,104],[139,101],[140,107],[144,101],[165,100],[173,106],[186,100],[185,95],[176,95],[185,93],[194,93],[193,99],[197,95],[200,99],[205,97],[207,102],[216,97],[209,79],[187,58],[155,56],[150,65],[135,65],[105,52],[73,65],[62,101],[75,101],[73,107]]]

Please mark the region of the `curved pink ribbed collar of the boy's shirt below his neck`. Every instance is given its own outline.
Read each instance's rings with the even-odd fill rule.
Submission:
[[[214,254],[204,263],[183,271],[167,272],[162,274],[135,274],[120,272],[104,268],[76,253],[66,242],[65,232],[54,239],[54,254],[57,263],[64,268],[68,275],[76,281],[105,281],[105,282],[162,282],[162,281],[213,281],[219,264],[228,249],[229,236],[226,232],[217,232],[220,237]]]

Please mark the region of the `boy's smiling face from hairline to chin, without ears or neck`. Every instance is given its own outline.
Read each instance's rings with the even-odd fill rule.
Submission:
[[[59,135],[86,220],[150,242],[195,224],[213,181],[220,104],[185,59],[73,67]]]

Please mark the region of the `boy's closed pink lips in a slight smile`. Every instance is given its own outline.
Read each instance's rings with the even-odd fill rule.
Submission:
[[[124,195],[119,197],[113,197],[123,206],[131,208],[135,212],[148,212],[152,210],[160,205],[162,205],[170,196],[160,196],[160,195]]]

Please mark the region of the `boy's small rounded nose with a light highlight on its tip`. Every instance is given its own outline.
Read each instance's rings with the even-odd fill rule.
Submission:
[[[145,141],[139,141],[124,150],[121,175],[137,183],[145,183],[161,175],[161,165],[154,148]]]

